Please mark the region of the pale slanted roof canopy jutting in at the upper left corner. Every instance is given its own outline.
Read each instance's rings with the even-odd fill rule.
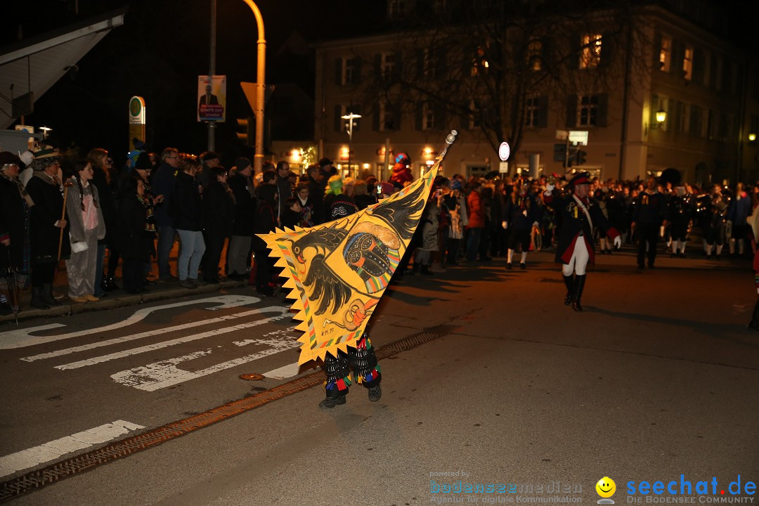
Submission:
[[[0,128],[20,115],[20,108],[12,107],[14,99],[31,93],[27,98],[33,102],[43,96],[106,33],[124,24],[127,11],[120,8],[0,47]]]

